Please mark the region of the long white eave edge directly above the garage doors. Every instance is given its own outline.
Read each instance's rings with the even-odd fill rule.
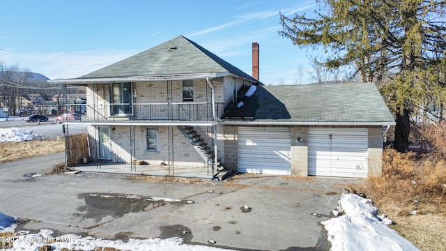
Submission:
[[[394,121],[364,121],[364,122],[300,122],[300,121],[222,121],[223,125],[234,126],[395,126]]]

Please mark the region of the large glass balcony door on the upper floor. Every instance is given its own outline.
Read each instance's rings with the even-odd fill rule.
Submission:
[[[132,83],[112,84],[112,115],[132,114]]]

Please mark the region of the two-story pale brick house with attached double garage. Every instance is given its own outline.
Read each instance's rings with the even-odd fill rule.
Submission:
[[[86,86],[91,158],[129,170],[379,175],[394,124],[374,84],[263,86],[183,36],[51,82]]]

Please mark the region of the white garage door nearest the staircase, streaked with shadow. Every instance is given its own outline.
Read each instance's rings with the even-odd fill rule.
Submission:
[[[290,128],[238,128],[238,171],[291,174]]]

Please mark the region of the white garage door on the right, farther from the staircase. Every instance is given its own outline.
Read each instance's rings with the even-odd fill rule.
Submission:
[[[310,128],[308,175],[367,178],[367,128]]]

